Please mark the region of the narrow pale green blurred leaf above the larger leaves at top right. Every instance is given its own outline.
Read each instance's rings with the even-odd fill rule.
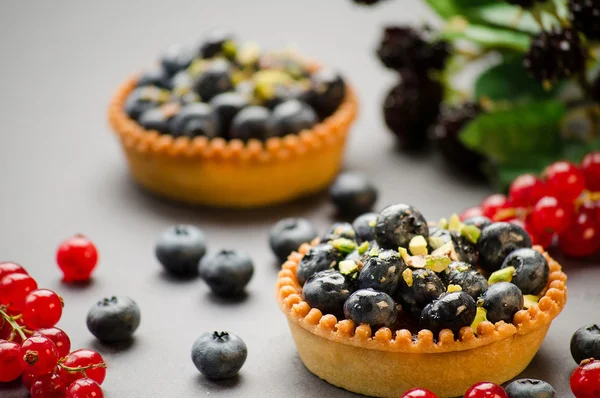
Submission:
[[[441,32],[440,36],[450,41],[468,40],[483,48],[504,48],[522,53],[526,52],[530,45],[530,37],[527,33],[473,25],[464,19],[451,21],[447,30]]]

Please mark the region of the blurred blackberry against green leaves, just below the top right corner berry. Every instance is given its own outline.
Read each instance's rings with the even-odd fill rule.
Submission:
[[[583,71],[585,54],[578,33],[554,29],[534,36],[523,64],[540,82],[554,83]]]

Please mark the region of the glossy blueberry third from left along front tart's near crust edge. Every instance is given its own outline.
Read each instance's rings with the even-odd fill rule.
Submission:
[[[431,330],[436,336],[443,329],[457,334],[461,328],[473,323],[476,313],[475,300],[467,293],[447,293],[423,308],[421,327]]]

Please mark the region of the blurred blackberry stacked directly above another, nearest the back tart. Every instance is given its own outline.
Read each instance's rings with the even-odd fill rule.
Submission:
[[[444,68],[450,45],[445,41],[428,43],[419,31],[408,26],[389,26],[383,32],[377,55],[389,69],[425,74]]]

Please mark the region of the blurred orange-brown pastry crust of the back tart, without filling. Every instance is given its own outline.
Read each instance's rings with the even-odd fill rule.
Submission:
[[[327,187],[341,167],[358,110],[356,95],[346,86],[338,109],[297,135],[264,143],[174,138],[145,130],[125,113],[125,101],[136,81],[134,76],[117,90],[108,110],[134,179],[160,196],[213,207],[272,205]]]

